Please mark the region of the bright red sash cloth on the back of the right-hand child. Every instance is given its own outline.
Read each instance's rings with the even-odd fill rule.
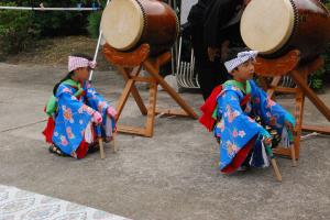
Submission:
[[[212,114],[217,108],[217,98],[222,90],[222,85],[216,87],[209,98],[200,107],[202,112],[199,118],[199,122],[207,128],[208,131],[212,131],[216,120],[212,118]]]

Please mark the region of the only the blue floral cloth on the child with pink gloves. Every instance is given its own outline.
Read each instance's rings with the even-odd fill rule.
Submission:
[[[65,84],[59,85],[55,95],[58,111],[55,118],[53,143],[68,155],[73,155],[79,147],[94,112],[99,111],[106,123],[107,108],[110,106],[90,85],[85,84],[82,88],[86,100],[84,96],[77,99],[74,96],[77,89]]]

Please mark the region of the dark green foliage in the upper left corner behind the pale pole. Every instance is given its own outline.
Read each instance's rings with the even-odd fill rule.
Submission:
[[[91,7],[95,0],[1,0],[1,6]],[[0,55],[23,51],[38,37],[81,35],[87,33],[90,12],[0,10]]]

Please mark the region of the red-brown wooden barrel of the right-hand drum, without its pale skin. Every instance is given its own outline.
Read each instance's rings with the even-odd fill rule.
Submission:
[[[295,11],[293,32],[288,35],[289,37],[283,46],[268,53],[261,52],[261,56],[275,58],[285,55],[292,50],[299,50],[302,62],[311,61],[323,53],[327,44],[330,42],[330,13],[319,0],[289,0],[289,2]],[[245,10],[249,10],[249,6]],[[280,11],[278,13],[280,14]],[[266,22],[267,19],[265,18],[264,20]],[[265,25],[267,24],[265,23]],[[244,38],[244,33],[242,33],[242,36]],[[257,38],[255,36],[255,38],[256,42],[263,42],[262,37]],[[248,43],[246,46],[256,50]]]

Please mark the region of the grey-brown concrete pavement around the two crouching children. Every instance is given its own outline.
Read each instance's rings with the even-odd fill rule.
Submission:
[[[50,154],[40,121],[64,74],[65,67],[0,64],[0,185],[136,220],[329,219],[329,136],[302,141],[298,167],[279,158],[282,184],[271,168],[220,174],[216,141],[189,119],[158,118],[153,139],[120,134],[120,151],[108,147],[105,161],[98,153],[81,161]],[[116,73],[97,72],[95,87],[116,103],[123,81]],[[183,97],[196,110],[202,103],[200,95]],[[320,97],[330,106],[329,89]],[[164,92],[158,98],[162,107],[175,106]],[[279,102],[293,107],[289,97]],[[122,122],[141,124],[136,105],[130,100],[128,107]],[[329,125],[308,100],[305,112],[306,123]]]

